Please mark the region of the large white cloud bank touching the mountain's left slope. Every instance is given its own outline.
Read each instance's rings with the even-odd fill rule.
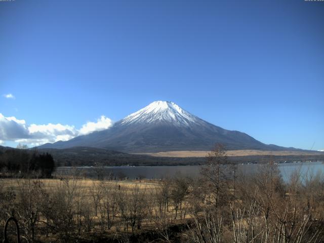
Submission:
[[[62,124],[27,125],[25,120],[14,116],[5,117],[0,113],[0,141],[15,141],[38,146],[44,143],[70,140],[78,135],[107,129],[111,125],[111,119],[104,115],[97,122],[88,121],[80,130],[77,130],[74,126]]]

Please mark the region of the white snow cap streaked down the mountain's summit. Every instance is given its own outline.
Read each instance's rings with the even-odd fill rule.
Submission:
[[[200,120],[196,116],[182,109],[171,101],[154,101],[148,106],[126,116],[121,124],[147,124],[156,122],[167,122],[173,125],[189,126]]]

